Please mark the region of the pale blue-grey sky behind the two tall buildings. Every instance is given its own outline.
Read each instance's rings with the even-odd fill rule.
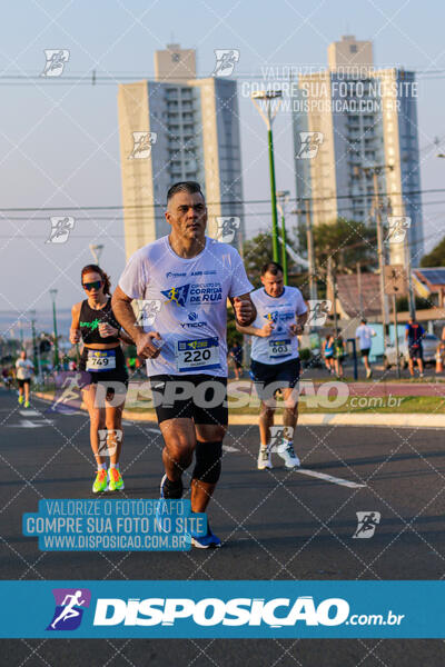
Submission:
[[[234,76],[260,83],[265,68],[325,68],[327,46],[342,34],[372,40],[376,66],[419,72],[422,189],[445,188],[445,160],[436,157],[445,152],[444,22],[445,6],[432,0],[8,3],[0,40],[0,311],[28,321],[34,309],[39,323],[51,306],[49,289],[58,289],[60,309],[81,300],[79,273],[92,259],[90,242],[103,243],[101,265],[116,286],[125,266],[119,211],[62,209],[121,205],[117,83],[122,76],[152,77],[155,50],[172,41],[197,50],[198,76],[211,73],[215,49],[239,49]],[[44,49],[70,52],[63,74],[51,81],[39,77]],[[108,82],[92,86],[92,70]],[[247,96],[239,111],[244,197],[268,199],[265,127]],[[295,196],[288,113],[277,116],[274,140],[277,189]],[[445,190],[423,202],[428,249],[445,235]],[[269,223],[268,210],[247,205],[249,236]],[[75,217],[68,241],[47,243],[49,217],[65,215]]]

